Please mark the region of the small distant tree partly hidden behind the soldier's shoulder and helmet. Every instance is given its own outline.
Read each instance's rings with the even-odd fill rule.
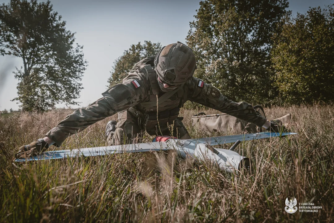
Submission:
[[[127,73],[131,68],[139,61],[146,57],[155,56],[158,54],[161,48],[161,44],[152,43],[151,41],[145,41],[145,44],[132,44],[128,50],[125,50],[123,55],[116,59],[113,66],[113,71],[110,72],[111,76],[108,80],[110,87],[121,83],[123,78],[127,76]]]

